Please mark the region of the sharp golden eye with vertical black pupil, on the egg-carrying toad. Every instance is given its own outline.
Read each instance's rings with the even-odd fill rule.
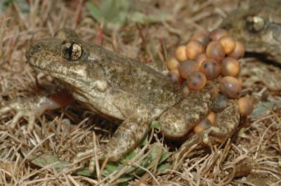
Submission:
[[[67,60],[79,60],[83,54],[82,47],[74,41],[67,41],[61,48],[63,58]]]

